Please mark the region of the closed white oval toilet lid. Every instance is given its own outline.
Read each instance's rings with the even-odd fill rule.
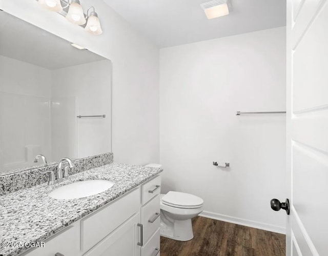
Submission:
[[[197,208],[204,203],[204,201],[196,195],[176,191],[169,191],[161,200],[163,204],[178,208]]]

